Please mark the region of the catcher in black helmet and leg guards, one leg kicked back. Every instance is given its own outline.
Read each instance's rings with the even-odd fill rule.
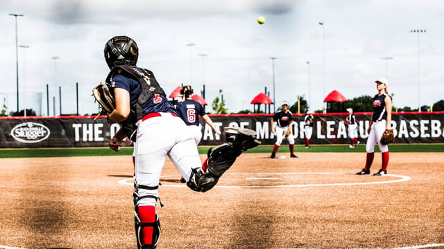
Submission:
[[[105,44],[104,54],[111,71],[106,84],[94,87],[93,95],[100,104],[110,104],[104,104],[101,112],[107,114],[108,122],[122,124],[110,147],[118,150],[125,137],[136,141],[133,201],[137,248],[153,249],[160,238],[156,203],[165,158],[169,156],[191,190],[206,192],[242,152],[260,142],[253,130],[225,127],[227,142],[210,149],[202,163],[194,138],[178,118],[153,72],[136,66],[139,56],[136,42],[126,36],[112,37]],[[110,96],[105,96],[108,92]]]

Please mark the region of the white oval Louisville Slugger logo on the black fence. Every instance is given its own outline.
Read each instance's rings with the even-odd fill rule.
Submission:
[[[48,138],[50,133],[48,127],[36,122],[17,124],[11,130],[12,138],[26,143],[41,142]]]

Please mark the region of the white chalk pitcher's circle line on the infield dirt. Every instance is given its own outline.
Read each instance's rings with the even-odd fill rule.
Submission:
[[[278,173],[278,172],[274,172],[274,173],[230,173],[233,175],[241,175],[241,174],[248,174],[248,176],[251,176],[253,174],[266,174],[266,175],[271,175],[271,174],[277,174],[277,175],[290,175],[290,174],[304,174],[304,175],[309,175],[309,174],[321,174],[321,175],[345,175],[345,173],[327,173],[327,172],[284,172],[284,173]],[[325,186],[353,186],[353,185],[372,185],[372,184],[386,184],[386,183],[400,183],[403,181],[409,181],[410,177],[409,176],[400,176],[400,175],[393,175],[393,174],[387,174],[385,176],[372,176],[378,179],[381,178],[386,178],[388,176],[391,177],[395,177],[398,179],[395,180],[390,180],[390,181],[373,181],[373,182],[366,182],[366,183],[309,183],[309,184],[295,184],[295,185],[250,185],[250,186],[239,186],[239,185],[225,185],[225,186],[219,186],[216,185],[215,187],[219,187],[219,188],[282,188],[282,187],[325,187]],[[162,176],[161,176],[162,177]],[[165,177],[165,176],[163,176]],[[356,176],[356,177],[368,177],[368,176]],[[258,178],[246,178],[246,180],[252,180],[252,179],[258,179]],[[128,182],[130,181],[130,182]],[[119,184],[123,184],[123,185],[133,185],[133,178],[129,178],[129,179],[123,179],[121,181],[119,181]],[[186,187],[186,185],[184,184],[180,184],[180,185],[169,185],[169,184],[162,184],[162,187]]]

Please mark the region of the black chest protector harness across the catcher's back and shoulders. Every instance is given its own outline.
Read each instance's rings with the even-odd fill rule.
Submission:
[[[136,114],[136,121],[142,119],[142,104],[144,104],[151,95],[158,93],[162,96],[167,96],[164,89],[162,89],[159,83],[157,83],[157,80],[155,80],[153,72],[144,68],[139,69],[142,72],[138,71],[135,66],[114,66],[106,77],[106,82],[109,84],[112,82],[112,78],[115,75],[124,75],[139,82],[141,93],[137,99],[137,102],[133,105],[133,107],[131,107],[131,111],[134,111]]]

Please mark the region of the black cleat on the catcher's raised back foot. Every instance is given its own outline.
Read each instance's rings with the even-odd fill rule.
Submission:
[[[231,142],[234,147],[241,145],[242,151],[251,149],[260,145],[261,142],[256,139],[256,131],[239,127],[225,127],[225,136],[227,142]]]

